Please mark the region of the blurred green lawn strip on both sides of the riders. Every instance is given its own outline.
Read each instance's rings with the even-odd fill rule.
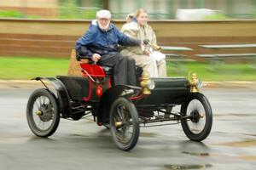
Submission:
[[[196,72],[203,81],[256,81],[256,61],[253,63],[211,63],[168,61],[169,77],[188,77]],[[35,66],[36,65],[36,66]],[[69,59],[35,57],[0,57],[0,79],[31,79],[67,75]],[[254,65],[254,67],[253,67]]]

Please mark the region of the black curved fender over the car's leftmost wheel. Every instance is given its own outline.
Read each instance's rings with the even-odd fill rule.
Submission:
[[[67,88],[64,86],[64,84],[58,80],[55,77],[35,77],[32,78],[32,80],[40,81],[43,83],[44,87],[49,89],[49,92],[55,95],[55,97],[58,99],[59,105],[60,105],[60,111],[61,116],[63,118],[66,118],[70,115],[70,96],[67,93]],[[55,88],[57,94],[53,92],[44,82],[43,80],[46,80],[47,82],[50,82],[53,87]]]

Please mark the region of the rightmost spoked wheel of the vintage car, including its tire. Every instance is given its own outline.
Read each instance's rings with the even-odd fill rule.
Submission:
[[[203,94],[190,94],[188,102],[181,107],[181,120],[186,136],[195,141],[206,139],[212,129],[212,108]]]

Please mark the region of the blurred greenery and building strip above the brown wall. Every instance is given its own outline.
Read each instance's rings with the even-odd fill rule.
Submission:
[[[218,11],[206,19],[256,18],[255,0],[2,0],[0,16],[43,19],[93,19],[96,10],[106,8],[113,19],[123,20],[137,8],[147,8],[157,20],[176,18],[178,8],[209,8]]]

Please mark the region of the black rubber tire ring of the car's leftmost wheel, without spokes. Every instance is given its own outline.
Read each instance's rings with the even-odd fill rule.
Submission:
[[[38,129],[38,127],[34,123],[33,117],[32,117],[32,114],[33,114],[32,107],[34,105],[34,102],[36,101],[36,99],[38,99],[39,96],[47,97],[49,99],[49,101],[51,102],[52,106],[54,107],[54,120],[53,120],[52,124],[50,125],[50,127],[46,130]],[[26,120],[27,120],[28,126],[32,130],[32,133],[34,133],[35,135],[37,135],[39,137],[46,138],[46,137],[49,137],[50,135],[52,135],[53,133],[55,133],[55,130],[59,126],[59,122],[60,122],[59,107],[57,105],[57,99],[55,98],[55,95],[51,94],[49,92],[49,90],[45,89],[45,88],[40,88],[40,89],[34,91],[31,94],[30,98],[28,99],[28,102],[26,105]]]

